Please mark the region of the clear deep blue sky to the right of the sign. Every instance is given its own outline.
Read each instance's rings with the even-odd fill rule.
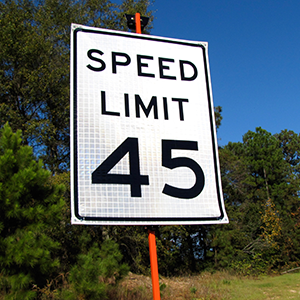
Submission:
[[[152,35],[207,41],[219,145],[300,132],[299,0],[156,0]]]

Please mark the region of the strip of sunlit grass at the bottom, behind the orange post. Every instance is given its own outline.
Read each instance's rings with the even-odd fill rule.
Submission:
[[[161,300],[300,299],[300,273],[249,278],[205,272],[197,276],[161,277],[160,285]],[[129,274],[115,299],[151,300],[151,278]]]

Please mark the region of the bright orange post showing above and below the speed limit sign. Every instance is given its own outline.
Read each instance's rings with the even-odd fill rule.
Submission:
[[[141,29],[141,15],[140,15],[140,13],[135,14],[134,20],[135,20],[136,33],[141,34],[142,29]],[[151,278],[152,278],[153,300],[160,300],[155,231],[154,231],[153,227],[147,227],[147,228],[148,228],[148,242],[149,242],[150,269],[151,269]]]

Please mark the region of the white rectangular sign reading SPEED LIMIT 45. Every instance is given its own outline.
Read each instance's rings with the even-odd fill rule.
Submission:
[[[73,224],[227,223],[207,43],[72,25]]]

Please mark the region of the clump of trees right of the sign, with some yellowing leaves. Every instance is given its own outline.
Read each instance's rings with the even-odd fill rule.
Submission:
[[[210,231],[215,266],[261,272],[299,259],[299,141],[256,128],[220,149],[230,223]]]

